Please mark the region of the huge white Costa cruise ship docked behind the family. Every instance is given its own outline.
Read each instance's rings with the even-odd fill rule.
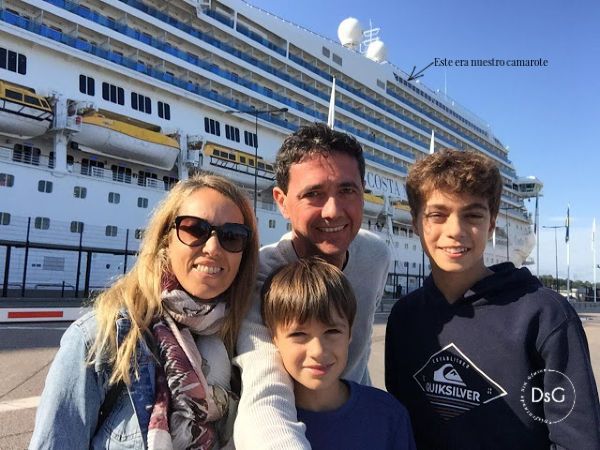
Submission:
[[[290,224],[272,197],[275,154],[330,110],[364,148],[363,226],[393,251],[389,290],[429,273],[404,182],[443,148],[498,164],[504,191],[485,262],[524,263],[535,236],[523,200],[542,183],[517,175],[474,113],[387,61],[373,30],[349,18],[338,35],[242,0],[0,2],[0,307],[35,295],[48,298],[40,317],[64,317],[52,313],[61,297],[131,268],[154,205],[198,171],[245,188],[261,244],[278,240]]]

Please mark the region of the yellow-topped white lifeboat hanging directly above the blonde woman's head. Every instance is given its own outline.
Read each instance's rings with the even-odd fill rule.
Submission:
[[[177,140],[99,113],[78,118],[77,147],[126,161],[169,170],[179,156]]]

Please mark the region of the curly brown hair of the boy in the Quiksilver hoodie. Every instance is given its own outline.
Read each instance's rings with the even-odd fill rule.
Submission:
[[[413,217],[417,217],[434,190],[483,197],[488,201],[491,217],[496,217],[502,177],[496,164],[487,156],[447,149],[420,159],[408,171],[406,194]]]

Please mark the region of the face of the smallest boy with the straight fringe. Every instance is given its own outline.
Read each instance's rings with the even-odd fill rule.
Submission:
[[[337,311],[331,313],[331,325],[310,319],[276,327],[273,341],[285,370],[294,379],[297,405],[313,403],[315,398],[327,403],[328,397],[338,392],[348,359],[350,325]]]

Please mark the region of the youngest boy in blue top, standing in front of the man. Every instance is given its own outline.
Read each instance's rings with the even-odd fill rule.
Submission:
[[[405,408],[391,395],[340,380],[356,300],[337,267],[316,257],[274,271],[262,315],[293,379],[298,420],[317,449],[414,449]]]

